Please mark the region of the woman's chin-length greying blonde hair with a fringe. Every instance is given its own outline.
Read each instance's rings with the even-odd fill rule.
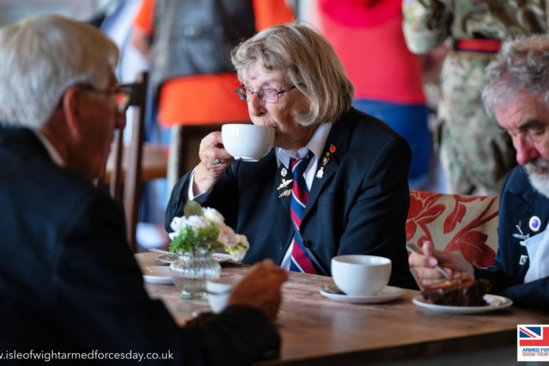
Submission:
[[[352,107],[354,86],[334,48],[304,24],[280,24],[260,31],[236,46],[231,59],[240,80],[250,78],[256,61],[266,71],[283,71],[309,100],[309,112],[296,116],[303,126],[337,121]]]

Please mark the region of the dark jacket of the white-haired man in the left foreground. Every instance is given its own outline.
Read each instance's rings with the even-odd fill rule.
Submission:
[[[118,206],[56,166],[30,131],[0,127],[0,172],[2,352],[173,352],[149,362],[241,365],[277,349],[275,328],[250,307],[178,327],[143,288]]]

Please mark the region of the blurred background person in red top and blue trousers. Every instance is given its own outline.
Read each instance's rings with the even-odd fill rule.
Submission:
[[[406,47],[401,0],[320,0],[319,29],[342,60],[355,92],[353,106],[406,138],[412,190],[430,183],[431,133],[421,64]]]

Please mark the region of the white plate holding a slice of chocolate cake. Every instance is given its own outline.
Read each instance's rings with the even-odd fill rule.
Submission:
[[[452,278],[424,286],[421,295],[412,301],[429,310],[459,314],[491,312],[513,305],[513,300],[488,294],[488,290],[488,280],[476,280],[473,277]]]

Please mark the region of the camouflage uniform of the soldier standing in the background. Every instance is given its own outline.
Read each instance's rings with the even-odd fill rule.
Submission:
[[[448,36],[506,39],[545,33],[549,0],[404,0],[404,36],[409,49],[425,54]],[[498,195],[516,165],[510,136],[486,115],[481,93],[484,68],[493,54],[451,51],[441,70],[439,157],[448,190]]]

